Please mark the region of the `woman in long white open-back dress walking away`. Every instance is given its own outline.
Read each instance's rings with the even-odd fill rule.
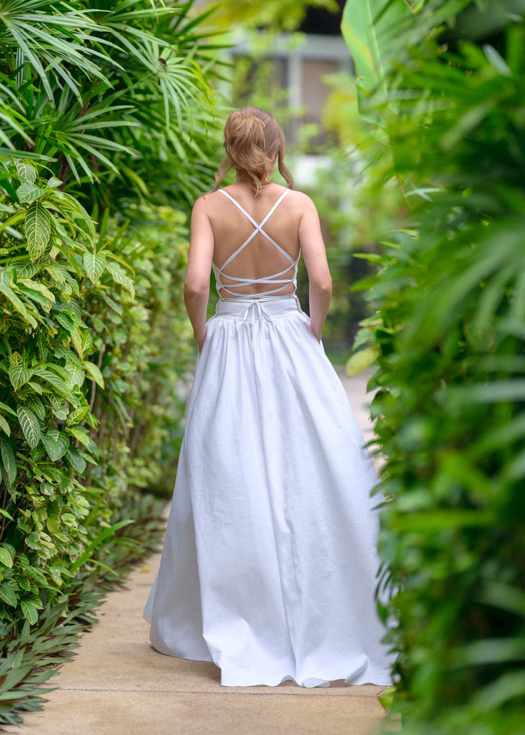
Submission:
[[[391,684],[374,600],[383,501],[322,345],[332,282],[319,217],[292,190],[269,112],[233,112],[195,202],[184,298],[199,354],[159,573],[156,650],[225,686]],[[288,184],[269,181],[275,162]],[[229,168],[236,183],[219,189]],[[303,254],[310,317],[295,295]],[[213,268],[220,300],[206,321]]]

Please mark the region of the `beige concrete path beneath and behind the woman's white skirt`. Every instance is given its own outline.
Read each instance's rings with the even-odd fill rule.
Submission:
[[[363,405],[367,376],[341,379],[363,433],[372,427]],[[220,685],[211,663],[162,656],[150,645],[142,610],[160,554],[128,577],[99,609],[78,655],[51,679],[58,686],[42,712],[26,715],[19,735],[370,735],[383,720],[384,686],[305,689]],[[399,728],[391,728],[399,731]]]

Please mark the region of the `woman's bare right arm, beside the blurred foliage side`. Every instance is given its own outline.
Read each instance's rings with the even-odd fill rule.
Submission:
[[[328,268],[319,215],[311,198],[303,194],[303,214],[299,223],[299,244],[310,284],[310,328],[321,341],[328,306],[332,298],[332,276]]]

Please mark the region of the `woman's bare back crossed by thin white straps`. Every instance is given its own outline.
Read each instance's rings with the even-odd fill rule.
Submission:
[[[258,298],[294,293],[301,217],[294,192],[269,184],[254,196],[246,187],[233,184],[206,195],[206,199],[214,234],[212,265],[217,286],[222,284],[217,289],[220,296]],[[263,222],[260,232],[257,226]]]

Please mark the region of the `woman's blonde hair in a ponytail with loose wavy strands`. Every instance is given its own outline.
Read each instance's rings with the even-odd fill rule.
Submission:
[[[269,184],[268,173],[275,154],[280,175],[290,189],[294,188],[292,174],[283,162],[284,133],[273,115],[261,107],[250,105],[231,113],[224,126],[224,147],[226,157],[215,174],[214,191],[233,167],[237,179],[250,184],[257,196]]]

